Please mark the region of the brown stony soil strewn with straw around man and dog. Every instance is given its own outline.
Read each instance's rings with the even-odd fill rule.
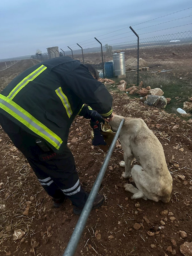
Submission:
[[[26,60],[17,64],[15,75],[34,63]],[[0,81],[5,79],[0,76]],[[123,160],[123,150],[117,142],[100,187],[105,203],[91,212],[75,255],[161,256],[166,253],[180,256],[180,245],[192,241],[191,125],[176,115],[131,100],[127,95],[111,93],[117,114],[142,118],[162,143],[173,177],[172,198],[168,204],[131,200],[131,194],[123,188],[127,180],[121,177],[124,169],[118,163]],[[92,146],[90,134],[89,121],[77,117],[68,138],[86,191],[91,190],[105,158],[98,147]],[[78,141],[71,142],[72,138]],[[78,220],[70,201],[58,209],[52,207],[51,198],[2,129],[0,147],[0,255],[62,255]],[[128,182],[134,184],[132,179]],[[27,205],[29,213],[25,215]],[[18,229],[25,234],[13,241],[12,235]],[[181,238],[180,230],[185,231],[187,237]],[[167,251],[167,247],[172,252]]]

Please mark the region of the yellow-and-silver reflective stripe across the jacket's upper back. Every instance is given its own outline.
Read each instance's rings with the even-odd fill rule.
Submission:
[[[10,100],[12,100],[15,95],[17,95],[18,92],[20,92],[20,90],[25,87],[30,81],[33,81],[37,76],[39,76],[47,67],[45,67],[44,65],[41,65],[39,68],[37,68],[36,70],[34,70],[32,73],[30,73],[28,76],[26,76],[25,78],[23,78],[23,80],[20,81],[19,84],[17,84],[12,91],[9,93],[9,95],[7,96]]]

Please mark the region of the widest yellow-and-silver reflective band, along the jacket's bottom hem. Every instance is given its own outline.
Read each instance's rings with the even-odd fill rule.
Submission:
[[[56,149],[60,148],[63,141],[57,134],[39,122],[34,116],[21,108],[17,103],[2,94],[0,94],[0,108],[27,126],[31,131],[44,138],[44,140],[49,142],[53,147]]]

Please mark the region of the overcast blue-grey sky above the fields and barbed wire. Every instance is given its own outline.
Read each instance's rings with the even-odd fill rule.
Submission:
[[[134,36],[118,39],[130,33],[115,36],[129,32],[130,28],[102,35],[191,6],[191,0],[0,0],[0,59],[35,54],[37,49],[46,52],[52,46],[65,48],[95,36],[104,44],[131,41]],[[133,28],[137,31],[189,15],[192,8]],[[138,34],[192,23],[191,18],[140,29]],[[188,30],[192,30],[192,25],[141,35],[141,38]],[[108,36],[113,37],[102,39]],[[86,47],[94,44],[93,40],[81,44]],[[93,46],[96,45],[89,47]]]

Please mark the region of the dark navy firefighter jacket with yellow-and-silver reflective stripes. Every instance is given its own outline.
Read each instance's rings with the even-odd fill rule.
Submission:
[[[103,117],[112,114],[112,96],[105,85],[79,61],[60,57],[15,77],[0,94],[0,113],[62,153],[83,103]]]

